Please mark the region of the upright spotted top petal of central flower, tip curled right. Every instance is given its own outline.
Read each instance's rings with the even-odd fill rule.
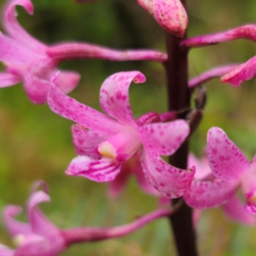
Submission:
[[[146,78],[138,71],[115,73],[102,84],[100,103],[102,109],[123,124],[134,124],[129,100],[131,82],[144,83]]]

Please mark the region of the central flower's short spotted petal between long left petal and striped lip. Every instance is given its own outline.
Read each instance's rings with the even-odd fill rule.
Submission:
[[[73,144],[79,155],[88,155],[92,158],[99,158],[97,148],[100,143],[107,139],[101,133],[89,131],[83,125],[73,125]]]

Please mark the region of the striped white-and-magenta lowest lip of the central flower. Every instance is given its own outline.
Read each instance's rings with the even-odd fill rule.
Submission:
[[[120,172],[122,164],[111,158],[94,160],[86,155],[78,156],[67,167],[66,174],[82,176],[98,183],[113,181]]]

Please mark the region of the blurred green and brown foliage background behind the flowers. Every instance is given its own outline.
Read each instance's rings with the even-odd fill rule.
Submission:
[[[3,5],[3,0],[0,1]],[[84,41],[118,49],[152,48],[165,51],[164,32],[136,0],[99,0],[78,4],[72,0],[35,0],[33,16],[18,9],[20,23],[45,44]],[[188,0],[189,36],[224,31],[256,22],[253,0]],[[247,61],[256,44],[245,40],[193,49],[189,53],[189,75],[230,62]],[[82,75],[70,95],[96,109],[99,89],[110,74],[140,70],[145,84],[131,86],[131,106],[135,116],[147,111],[166,111],[165,73],[159,63],[78,60],[61,64]],[[205,117],[191,140],[198,156],[205,145],[208,129],[219,126],[241,147],[251,160],[256,152],[255,80],[240,88],[207,83]],[[63,173],[76,155],[71,125],[51,113],[48,106],[34,106],[19,84],[0,90],[0,207],[24,206],[32,182],[49,184],[52,202],[42,206],[61,228],[80,225],[112,226],[131,222],[136,216],[154,210],[157,199],[144,195],[134,179],[116,200],[109,200],[108,185],[92,183]],[[24,216],[23,218],[24,219]],[[204,211],[197,226],[201,255],[254,255],[256,228],[231,223],[219,210]],[[10,245],[3,226],[0,241]],[[121,239],[86,243],[69,248],[63,255],[174,255],[172,234],[165,219]]]

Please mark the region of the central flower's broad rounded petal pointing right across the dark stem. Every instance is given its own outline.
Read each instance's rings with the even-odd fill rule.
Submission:
[[[160,155],[173,154],[189,135],[189,125],[184,120],[143,125],[137,130],[145,150]]]

